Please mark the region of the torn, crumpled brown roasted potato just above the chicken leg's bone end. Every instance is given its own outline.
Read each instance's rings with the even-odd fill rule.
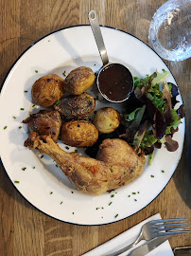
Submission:
[[[54,141],[58,140],[61,131],[61,117],[58,111],[40,110],[23,120],[28,124],[29,133],[36,132],[39,135],[50,135]]]

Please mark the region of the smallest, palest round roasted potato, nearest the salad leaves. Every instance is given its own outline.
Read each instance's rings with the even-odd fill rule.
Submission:
[[[120,115],[112,107],[100,108],[93,120],[96,129],[101,134],[110,134],[119,126]]]

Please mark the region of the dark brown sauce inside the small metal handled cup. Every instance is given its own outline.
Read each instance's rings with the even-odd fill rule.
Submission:
[[[97,85],[108,100],[123,101],[130,97],[133,78],[124,65],[109,64],[99,73]]]

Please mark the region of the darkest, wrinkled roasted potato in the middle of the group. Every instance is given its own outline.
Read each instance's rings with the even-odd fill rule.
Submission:
[[[95,110],[96,101],[87,93],[62,97],[54,108],[59,111],[63,119],[87,119]]]

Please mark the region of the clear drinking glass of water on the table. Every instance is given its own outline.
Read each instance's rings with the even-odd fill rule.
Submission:
[[[152,17],[149,44],[165,60],[191,57],[191,0],[169,0]]]

